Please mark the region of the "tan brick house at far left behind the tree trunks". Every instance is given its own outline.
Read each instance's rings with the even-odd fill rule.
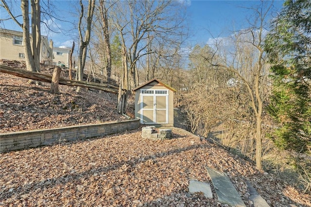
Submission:
[[[46,63],[49,61],[50,54],[48,37],[41,35],[40,63]],[[25,60],[22,32],[0,28],[0,59],[19,61]]]

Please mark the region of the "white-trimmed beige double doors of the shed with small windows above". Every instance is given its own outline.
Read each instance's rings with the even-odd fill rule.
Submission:
[[[145,93],[142,91],[140,106],[140,123],[168,122],[167,90],[145,90]]]

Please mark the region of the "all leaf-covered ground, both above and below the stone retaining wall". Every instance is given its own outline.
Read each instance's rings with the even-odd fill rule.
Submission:
[[[23,64],[14,62],[19,68]],[[42,69],[52,73],[53,68]],[[61,76],[66,77],[66,71]],[[27,80],[0,73],[0,132],[125,120],[117,95]],[[133,116],[133,102],[129,114]],[[104,138],[0,154],[0,206],[218,206],[190,195],[189,179],[210,183],[206,166],[225,172],[251,207],[246,181],[273,207],[311,206],[311,196],[254,163],[173,128],[171,140],[142,139],[133,130]],[[293,207],[293,206],[292,206]]]

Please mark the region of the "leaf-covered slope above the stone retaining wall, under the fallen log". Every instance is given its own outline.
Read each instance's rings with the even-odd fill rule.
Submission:
[[[24,69],[25,64],[6,61],[3,64]],[[53,67],[41,67],[52,74]],[[61,77],[68,78],[68,70]],[[44,129],[77,124],[122,121],[117,113],[117,95],[99,90],[77,94],[71,86],[59,85],[60,94],[50,93],[50,83],[28,85],[28,79],[0,73],[0,132]],[[129,98],[128,115],[134,118],[134,99]]]

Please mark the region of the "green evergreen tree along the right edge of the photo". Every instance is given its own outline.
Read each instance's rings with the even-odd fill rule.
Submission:
[[[276,145],[311,154],[311,1],[286,0],[265,40],[273,77],[268,108]]]

